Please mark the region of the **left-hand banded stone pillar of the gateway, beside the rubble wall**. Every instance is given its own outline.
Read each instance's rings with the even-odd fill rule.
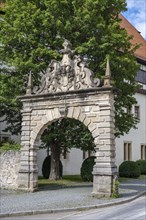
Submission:
[[[22,111],[22,131],[21,131],[21,154],[20,170],[18,173],[18,188],[27,191],[37,189],[37,149],[31,147],[31,109]]]

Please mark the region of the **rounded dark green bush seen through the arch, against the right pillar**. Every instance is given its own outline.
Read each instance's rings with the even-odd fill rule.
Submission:
[[[81,166],[81,178],[83,181],[93,182],[93,166],[95,164],[95,156],[85,159]]]

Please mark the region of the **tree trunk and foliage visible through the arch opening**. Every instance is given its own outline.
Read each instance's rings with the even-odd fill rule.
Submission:
[[[85,151],[94,151],[93,137],[87,127],[75,119],[60,119],[53,122],[44,131],[43,144],[51,155],[50,180],[60,179],[59,160],[60,155],[69,152],[71,148]]]

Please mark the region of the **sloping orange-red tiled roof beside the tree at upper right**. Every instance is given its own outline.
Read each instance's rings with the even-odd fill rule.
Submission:
[[[133,39],[131,40],[132,44],[142,44],[136,51],[135,56],[141,60],[146,61],[146,41],[141,36],[139,31],[123,16],[119,15],[119,17],[122,19],[121,21],[121,28],[124,28],[128,35],[132,35]]]

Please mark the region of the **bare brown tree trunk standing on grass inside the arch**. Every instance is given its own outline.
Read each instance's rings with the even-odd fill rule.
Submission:
[[[51,144],[51,166],[49,180],[61,179],[59,172],[60,149],[56,144]]]

